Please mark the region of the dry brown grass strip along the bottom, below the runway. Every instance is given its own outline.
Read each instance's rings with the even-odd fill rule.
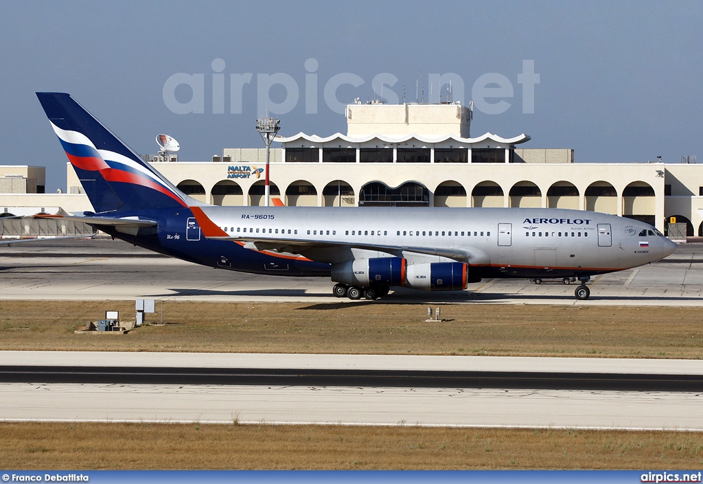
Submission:
[[[0,469],[700,469],[677,432],[0,423]]]

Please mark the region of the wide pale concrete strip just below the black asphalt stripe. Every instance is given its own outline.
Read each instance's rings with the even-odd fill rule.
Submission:
[[[0,383],[5,421],[158,421],[703,431],[700,393]]]

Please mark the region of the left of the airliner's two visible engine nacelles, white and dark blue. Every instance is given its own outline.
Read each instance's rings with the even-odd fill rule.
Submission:
[[[375,257],[334,264],[332,280],[349,286],[401,286],[407,261],[403,257]]]

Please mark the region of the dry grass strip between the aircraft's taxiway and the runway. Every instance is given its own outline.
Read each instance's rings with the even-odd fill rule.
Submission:
[[[86,321],[134,302],[0,301],[0,350],[292,352],[392,355],[703,357],[694,307],[424,305],[373,302],[157,303],[124,336],[76,335]]]

